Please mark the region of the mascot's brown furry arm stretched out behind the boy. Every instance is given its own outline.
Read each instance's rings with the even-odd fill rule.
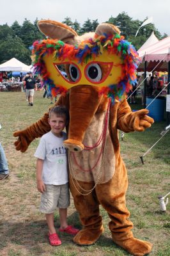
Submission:
[[[58,106],[58,105],[66,105],[65,96],[61,95],[59,97],[58,102],[56,102],[55,106]],[[14,132],[13,136],[19,137],[18,140],[15,141],[14,143],[16,150],[25,152],[29,147],[29,144],[31,143],[31,141],[49,132],[50,125],[48,122],[48,118],[49,118],[49,112],[45,113],[43,117],[40,120],[38,120],[35,124],[32,124],[31,126],[27,127],[24,130]]]

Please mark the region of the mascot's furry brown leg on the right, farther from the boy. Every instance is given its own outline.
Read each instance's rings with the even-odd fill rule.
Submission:
[[[130,213],[125,205],[127,185],[127,170],[122,163],[121,168],[116,169],[112,180],[97,186],[97,198],[111,218],[109,228],[114,243],[132,255],[142,256],[151,252],[152,244],[133,237],[133,223],[128,220]]]

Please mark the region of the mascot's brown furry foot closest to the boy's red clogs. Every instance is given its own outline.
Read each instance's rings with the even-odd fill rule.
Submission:
[[[104,232],[104,227],[102,226],[100,230],[98,229],[87,229],[83,228],[80,230],[75,237],[73,237],[73,241],[79,245],[91,245],[94,244],[98,238]]]

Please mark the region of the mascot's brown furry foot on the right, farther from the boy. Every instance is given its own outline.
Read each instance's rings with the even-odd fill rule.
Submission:
[[[127,252],[131,253],[135,256],[143,256],[151,252],[151,248],[153,244],[142,241],[139,239],[136,239],[134,237],[129,238],[124,241],[117,241],[114,240],[114,243],[121,246],[123,249],[125,249]]]

